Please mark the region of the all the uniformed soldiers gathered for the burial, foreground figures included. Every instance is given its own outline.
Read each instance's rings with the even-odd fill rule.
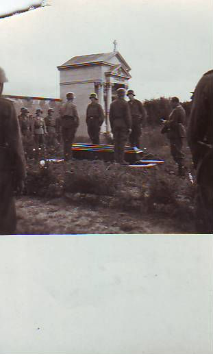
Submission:
[[[25,179],[25,157],[23,145],[29,141],[35,144],[45,144],[48,136],[49,144],[56,142],[57,123],[53,118],[53,110],[42,118],[42,110],[36,110],[35,116],[29,116],[26,108],[16,116],[14,105],[8,99],[3,99],[3,85],[8,79],[0,68],[0,233],[14,233],[16,230],[16,209],[14,191],[23,190]],[[188,126],[188,142],[192,151],[192,160],[197,169],[197,231],[212,233],[213,207],[213,71],[201,77],[193,97],[190,122]],[[110,105],[110,124],[114,135],[114,159],[119,164],[127,164],[124,160],[124,149],[127,139],[131,146],[139,146],[140,122],[146,112],[142,103],[134,98],[134,92],[129,90],[125,101],[125,89],[117,90],[117,99]],[[76,105],[73,103],[73,92],[66,94],[67,102],[62,105],[60,112],[60,127],[64,141],[64,160],[70,160],[71,147],[75,132],[79,125]],[[86,111],[88,134],[94,144],[99,143],[99,131],[104,114],[101,105],[97,103],[97,95],[90,95],[91,103]],[[164,129],[171,142],[171,153],[179,166],[179,173],[184,168],[184,155],[181,151],[184,129],[185,112],[179,104],[179,99],[171,99],[173,110],[164,121]],[[19,123],[18,123],[19,121]],[[23,144],[21,135],[23,137]]]

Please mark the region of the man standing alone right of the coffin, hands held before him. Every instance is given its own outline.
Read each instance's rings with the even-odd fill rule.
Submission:
[[[178,164],[178,174],[181,176],[184,175],[186,169],[184,166],[184,153],[181,151],[183,140],[186,138],[186,130],[184,127],[186,112],[180,105],[177,97],[171,99],[171,104],[173,110],[168,116],[168,121],[163,121],[164,128],[162,129],[162,133],[166,133],[170,140],[171,155]]]

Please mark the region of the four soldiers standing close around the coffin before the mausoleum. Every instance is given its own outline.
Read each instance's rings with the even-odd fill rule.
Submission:
[[[146,118],[147,112],[140,101],[135,99],[133,90],[127,91],[129,102],[125,101],[126,91],[118,88],[117,99],[110,105],[110,125],[114,136],[114,160],[119,164],[127,164],[124,160],[125,144],[129,138],[131,147],[139,148],[142,119]],[[71,147],[75,133],[79,125],[77,107],[73,103],[75,95],[73,92],[66,94],[67,102],[60,110],[60,124],[62,125],[62,140],[64,142],[64,160],[72,158]],[[97,102],[96,93],[90,94],[90,103],[86,109],[86,125],[88,135],[92,144],[99,144],[101,125],[105,120],[103,108]],[[64,133],[63,133],[64,131]]]

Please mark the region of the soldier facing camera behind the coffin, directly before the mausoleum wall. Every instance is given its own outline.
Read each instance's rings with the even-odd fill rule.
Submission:
[[[92,144],[99,144],[99,133],[105,117],[103,108],[99,103],[97,103],[97,94],[91,93],[89,98],[91,103],[88,104],[88,108],[86,110],[86,124],[88,134]]]

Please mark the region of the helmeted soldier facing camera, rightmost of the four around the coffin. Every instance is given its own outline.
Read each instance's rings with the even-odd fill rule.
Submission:
[[[129,142],[131,147],[138,147],[140,149],[141,123],[142,120],[147,118],[147,111],[142,103],[138,99],[135,99],[134,90],[128,90],[127,96],[129,97],[128,104],[132,120]]]

